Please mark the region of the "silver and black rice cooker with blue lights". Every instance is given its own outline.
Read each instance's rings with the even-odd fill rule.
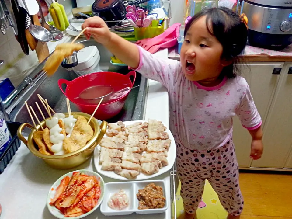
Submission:
[[[251,46],[280,50],[292,43],[292,0],[245,0],[241,12]]]

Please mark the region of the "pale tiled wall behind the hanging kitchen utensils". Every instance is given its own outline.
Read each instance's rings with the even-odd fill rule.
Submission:
[[[58,2],[64,5],[67,14],[71,12],[72,0],[59,0]],[[12,28],[9,28],[5,35],[0,33],[0,59],[5,61],[0,66],[0,81],[10,78],[14,86],[19,85],[38,64],[35,51],[30,51],[28,56],[23,53]]]

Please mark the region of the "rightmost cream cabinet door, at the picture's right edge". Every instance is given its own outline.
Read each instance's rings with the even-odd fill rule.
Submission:
[[[264,154],[251,167],[283,168],[292,147],[292,63],[285,63],[264,126]],[[288,164],[289,165],[289,164]],[[290,162],[290,166],[291,162]]]

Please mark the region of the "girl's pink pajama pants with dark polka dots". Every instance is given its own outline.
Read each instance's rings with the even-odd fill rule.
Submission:
[[[238,163],[232,140],[218,149],[194,151],[176,143],[177,172],[182,183],[184,209],[194,214],[201,201],[207,179],[224,209],[231,215],[240,215],[243,198],[239,189]]]

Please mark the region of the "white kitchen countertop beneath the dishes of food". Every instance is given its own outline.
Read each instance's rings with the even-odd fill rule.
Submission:
[[[166,56],[165,56],[166,54]],[[160,57],[167,57],[167,49],[158,52]],[[169,125],[169,100],[168,92],[159,82],[148,80],[148,95],[146,98],[144,120],[157,119]],[[0,175],[0,203],[2,205],[1,219],[51,219],[52,216],[47,209],[47,194],[51,185],[62,175],[78,169],[96,171],[92,158],[74,169],[56,170],[46,165],[40,158],[37,158],[22,143],[16,155]],[[117,180],[103,177],[105,182]],[[166,191],[170,191],[170,175],[166,172],[153,179],[163,179],[166,184]],[[171,203],[170,193],[167,193]],[[154,215],[131,214],[119,218],[150,219]],[[157,219],[170,219],[171,206],[163,214],[155,214]],[[99,208],[90,214],[88,219],[113,219],[100,213]],[[115,217],[116,218],[116,217]]]

